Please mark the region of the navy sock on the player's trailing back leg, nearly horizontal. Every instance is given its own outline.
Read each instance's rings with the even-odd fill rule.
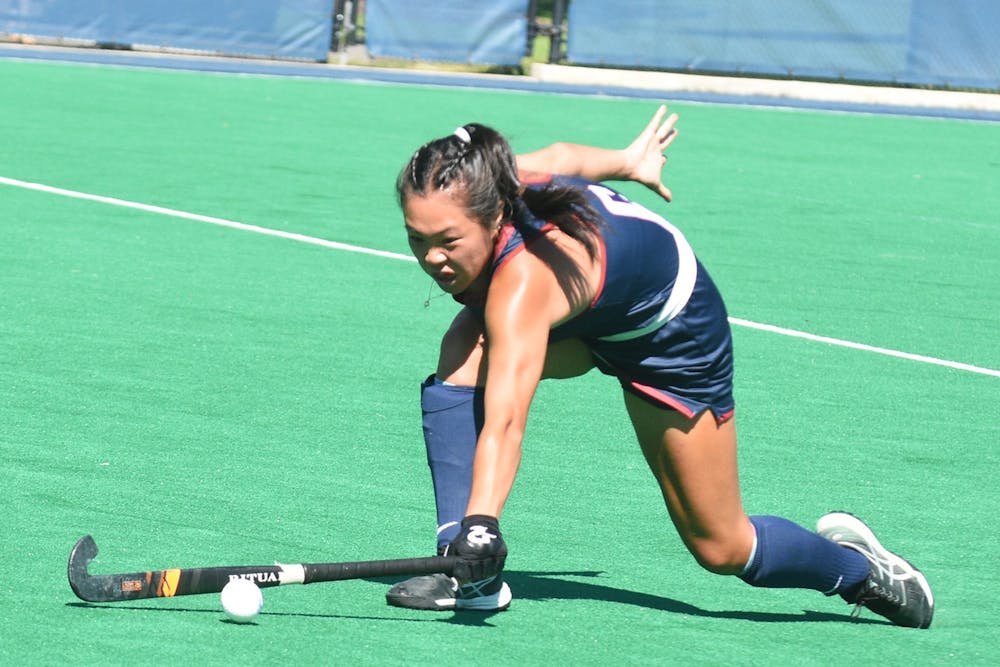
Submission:
[[[844,594],[868,576],[868,560],[776,516],[752,516],[756,549],[740,579],[766,588],[811,588]]]

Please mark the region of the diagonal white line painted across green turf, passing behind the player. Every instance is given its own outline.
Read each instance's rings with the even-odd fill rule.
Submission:
[[[268,227],[258,227],[257,225],[248,225],[242,222],[226,220],[225,218],[215,218],[208,215],[199,215],[197,213],[187,213],[186,211],[178,211],[176,209],[164,208],[162,206],[151,206],[149,204],[141,204],[139,202],[128,201],[126,199],[116,199],[114,197],[92,195],[86,192],[77,192],[76,190],[65,190],[63,188],[56,188],[51,185],[44,185],[41,183],[31,183],[29,181],[20,181],[15,178],[7,178],[5,176],[0,176],[0,185],[9,185],[11,187],[24,188],[26,190],[35,190],[37,192],[45,192],[48,194],[59,195],[62,197],[71,197],[73,199],[84,199],[87,201],[98,202],[101,204],[108,204],[111,206],[121,206],[123,208],[131,208],[138,211],[146,211],[148,213],[158,213],[160,215],[167,215],[175,218],[183,218],[185,220],[193,220],[195,222],[206,222],[212,225],[230,227],[232,229],[239,229],[246,232],[253,232],[255,234],[265,234],[267,236],[277,236],[279,238],[288,239],[290,241],[309,243],[311,245],[318,245],[324,248],[333,248],[335,250],[346,250],[348,252],[358,252],[366,255],[375,255],[378,257],[398,259],[407,262],[416,261],[410,255],[403,255],[396,252],[387,252],[385,250],[373,250],[371,248],[364,248],[362,246],[349,245],[346,243],[337,243],[336,241],[327,241],[325,239],[316,238],[314,236],[306,236],[305,234],[295,234],[293,232],[284,232],[278,229],[270,229]],[[730,317],[729,322],[736,326],[746,327],[749,329],[757,329],[758,331],[767,331],[769,333],[775,333],[782,336],[802,338],[817,343],[825,343],[827,345],[835,345],[838,347],[846,347],[853,350],[861,350],[863,352],[872,352],[875,354],[881,354],[889,357],[897,357],[899,359],[908,359],[910,361],[918,361],[925,364],[944,366],[946,368],[966,371],[969,373],[978,373],[980,375],[992,375],[993,377],[1000,377],[1000,371],[994,370],[992,368],[972,366],[971,364],[963,364],[961,362],[948,361],[946,359],[937,359],[935,357],[926,357],[920,354],[910,354],[909,352],[900,352],[897,350],[890,350],[884,347],[875,347],[873,345],[865,345],[863,343],[854,343],[848,340],[841,340],[839,338],[818,336],[816,334],[810,334],[804,331],[796,331],[795,329],[785,329],[783,327],[777,327],[772,324],[761,324],[759,322],[752,322],[750,320],[744,320],[739,317]]]

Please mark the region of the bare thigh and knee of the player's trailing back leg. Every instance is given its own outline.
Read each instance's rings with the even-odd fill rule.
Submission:
[[[740,498],[736,427],[711,412],[694,419],[625,393],[642,453],[681,539],[706,568],[738,572],[753,548]]]

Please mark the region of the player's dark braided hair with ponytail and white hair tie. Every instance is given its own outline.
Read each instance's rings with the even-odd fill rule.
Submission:
[[[400,207],[411,196],[453,188],[469,216],[492,225],[497,215],[513,217],[519,206],[551,222],[597,256],[594,229],[601,218],[580,188],[548,184],[524,188],[517,175],[517,161],[507,140],[496,130],[469,123],[454,134],[421,146],[396,179]]]

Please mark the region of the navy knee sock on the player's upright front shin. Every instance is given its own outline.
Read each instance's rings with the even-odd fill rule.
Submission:
[[[434,483],[438,550],[458,536],[472,489],[472,460],[483,428],[482,387],[444,384],[432,375],[420,385],[424,445]]]

